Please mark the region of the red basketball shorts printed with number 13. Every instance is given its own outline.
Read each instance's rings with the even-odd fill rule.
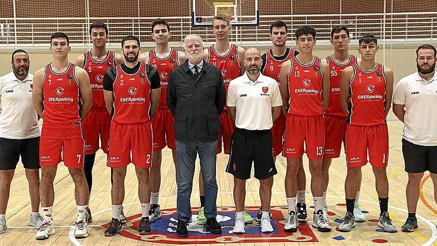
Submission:
[[[305,153],[309,159],[322,159],[325,142],[325,120],[322,115],[300,116],[287,114],[284,152],[286,158],[298,158]]]

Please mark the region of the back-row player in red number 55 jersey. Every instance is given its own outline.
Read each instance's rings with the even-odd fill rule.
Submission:
[[[323,175],[323,214],[327,215],[328,205],[326,202],[326,191],[329,183],[329,167],[333,158],[339,158],[341,144],[346,137],[346,118],[347,114],[343,111],[340,101],[340,77],[345,68],[355,65],[361,61],[356,56],[349,54],[349,29],[344,26],[335,26],[331,30],[331,44],[334,46],[334,54],[326,57],[323,62],[329,66],[330,95],[328,108],[325,111],[325,151],[322,161]],[[365,221],[358,204],[361,188],[361,173],[357,179],[357,196],[355,197],[354,216],[355,221]]]

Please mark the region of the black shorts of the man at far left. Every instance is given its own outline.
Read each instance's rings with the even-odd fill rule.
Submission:
[[[39,165],[39,139],[7,139],[0,138],[0,170],[13,170],[21,162],[24,168],[38,169]]]

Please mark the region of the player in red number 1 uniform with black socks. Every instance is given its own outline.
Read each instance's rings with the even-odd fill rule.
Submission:
[[[359,39],[361,61],[345,70],[341,76],[341,104],[348,112],[346,127],[346,162],[348,175],[345,182],[347,212],[339,230],[349,232],[355,227],[354,203],[357,178],[361,167],[369,160],[376,180],[379,198],[379,227],[396,232],[388,215],[388,129],[386,115],[393,94],[393,71],[375,63],[378,43],[373,35]],[[368,156],[367,156],[368,153]]]

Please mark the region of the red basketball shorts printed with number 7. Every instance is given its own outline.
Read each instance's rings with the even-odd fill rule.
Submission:
[[[39,144],[41,166],[57,165],[64,161],[68,167],[81,168],[84,156],[85,141],[83,139],[52,139],[41,136]]]

